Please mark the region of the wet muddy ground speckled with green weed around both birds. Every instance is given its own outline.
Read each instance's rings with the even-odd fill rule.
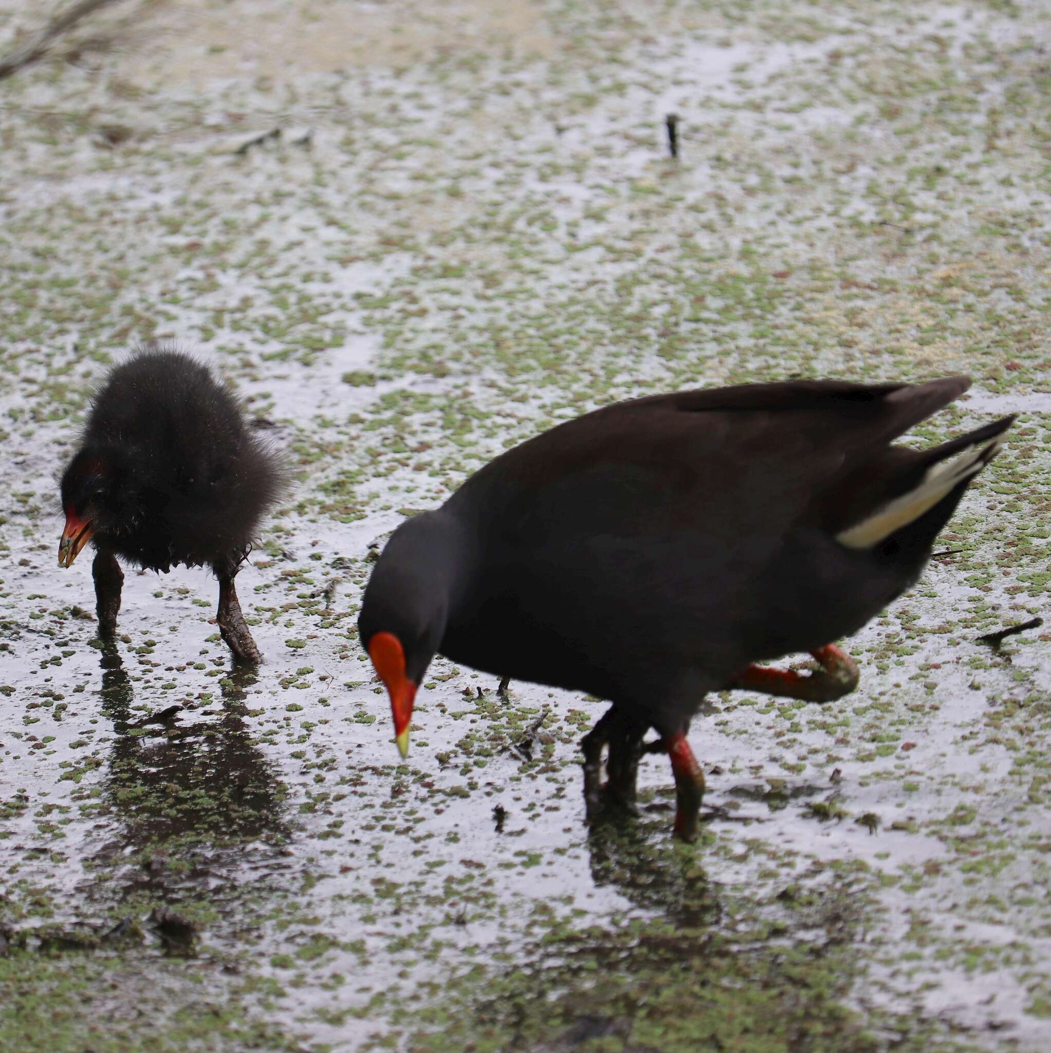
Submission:
[[[0,1047],[1046,1050],[1051,635],[976,637],[1051,608],[1049,15],[127,0],[0,82]],[[204,572],[129,574],[102,647],[56,565],[153,337],[296,465],[257,674]],[[404,516],[611,399],[954,372],[914,441],[1016,412],[1004,455],[854,695],[708,700],[699,845],[659,759],[585,828],[597,699],[440,660],[399,761],[355,619]]]

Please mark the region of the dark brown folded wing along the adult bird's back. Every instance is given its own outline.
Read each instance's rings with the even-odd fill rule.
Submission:
[[[621,402],[508,451],[454,501],[530,547],[552,534],[773,538],[969,383],[793,381]]]

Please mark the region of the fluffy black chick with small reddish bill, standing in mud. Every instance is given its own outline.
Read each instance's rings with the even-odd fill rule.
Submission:
[[[219,578],[223,639],[238,659],[258,662],[234,578],[285,478],[280,455],[251,433],[238,400],[200,362],[147,344],[116,366],[61,481],[59,565],[95,545],[99,635],[117,629],[118,556],[151,571],[207,564]]]

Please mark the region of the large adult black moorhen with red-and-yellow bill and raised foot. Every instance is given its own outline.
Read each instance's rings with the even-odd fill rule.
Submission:
[[[609,744],[633,792],[643,735],[671,758],[675,832],[704,776],[686,732],[705,693],[828,701],[857,671],[831,641],[913,584],[1012,417],[929,450],[891,445],[970,381],[744,384],[605,406],[523,442],[395,532],[359,632],[404,756],[436,653],[613,708],[584,741],[585,797]],[[809,651],[801,674],[754,663]],[[654,743],[655,744],[655,743]],[[647,750],[650,748],[647,748]]]

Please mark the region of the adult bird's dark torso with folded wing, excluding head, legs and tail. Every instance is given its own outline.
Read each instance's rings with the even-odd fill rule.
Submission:
[[[692,712],[748,662],[852,632],[901,591],[857,578],[823,498],[966,388],[683,392],[552,429],[448,502],[474,572],[443,649],[644,714]]]

